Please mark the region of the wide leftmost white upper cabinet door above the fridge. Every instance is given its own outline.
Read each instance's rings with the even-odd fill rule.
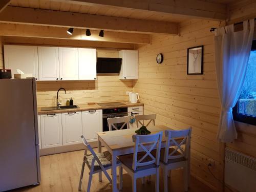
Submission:
[[[17,69],[32,74],[38,79],[38,54],[36,46],[4,46],[5,69],[12,70],[12,78]]]

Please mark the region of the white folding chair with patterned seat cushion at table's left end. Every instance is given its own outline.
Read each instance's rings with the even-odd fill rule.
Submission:
[[[83,135],[81,135],[81,138],[86,148],[84,150],[84,155],[83,155],[83,162],[82,162],[82,169],[81,169],[78,190],[81,190],[84,166],[85,164],[87,164],[88,168],[90,169],[87,192],[90,192],[93,174],[103,172],[106,178],[109,180],[109,182],[112,183],[112,179],[110,175],[108,174],[108,172],[106,172],[106,170],[111,169],[112,155],[108,151],[103,153],[95,153],[93,148],[87,142],[87,140],[83,137]],[[88,150],[91,152],[91,154],[87,154]],[[120,165],[121,163],[118,161],[117,166],[119,166],[119,183],[120,183],[119,188],[121,189],[122,188],[122,182],[121,182],[122,168]]]

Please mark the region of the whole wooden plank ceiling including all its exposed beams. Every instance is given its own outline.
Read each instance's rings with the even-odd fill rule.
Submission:
[[[226,4],[232,2],[234,0],[11,0],[0,13],[2,27],[9,24],[7,30],[1,27],[0,35],[149,44],[149,34],[177,35],[179,23],[191,18],[224,20]],[[46,26],[52,33],[47,32]],[[65,28],[69,27],[77,28],[74,31],[77,30],[78,35],[57,36],[60,30],[66,32]],[[38,30],[33,34],[31,30],[35,28]],[[82,34],[81,29],[87,28],[96,30],[95,38]],[[8,35],[9,29],[15,31]],[[101,29],[108,38],[96,38],[97,30]]]

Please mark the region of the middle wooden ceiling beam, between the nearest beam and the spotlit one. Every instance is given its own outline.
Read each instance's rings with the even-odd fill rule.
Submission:
[[[177,35],[179,31],[178,24],[169,22],[11,6],[0,13],[0,22],[148,34]]]

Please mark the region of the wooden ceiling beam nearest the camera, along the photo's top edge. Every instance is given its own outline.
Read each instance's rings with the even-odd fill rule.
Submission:
[[[226,19],[226,5],[200,0],[52,0],[89,6],[107,6],[193,16],[211,20]]]

